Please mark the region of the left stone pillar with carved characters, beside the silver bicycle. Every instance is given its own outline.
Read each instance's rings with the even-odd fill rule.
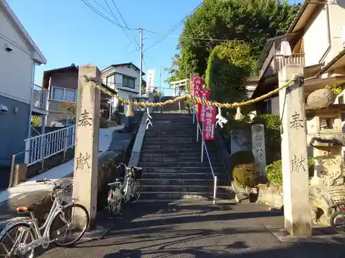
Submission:
[[[89,76],[99,81],[101,72],[95,65],[79,67],[78,100],[75,140],[75,188],[73,196],[86,207],[90,215],[90,229],[95,226],[98,188],[99,108],[101,93]]]

